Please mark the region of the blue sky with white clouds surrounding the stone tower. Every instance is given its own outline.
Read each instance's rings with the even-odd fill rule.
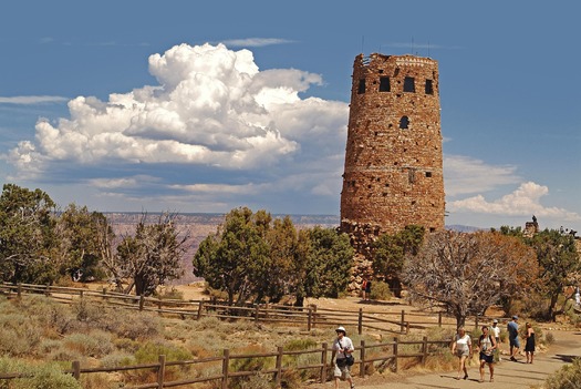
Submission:
[[[62,207],[339,215],[359,53],[439,63],[446,224],[581,231],[578,1],[3,1],[0,176]]]

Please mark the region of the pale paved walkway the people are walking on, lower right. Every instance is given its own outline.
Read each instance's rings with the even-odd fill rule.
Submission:
[[[575,357],[581,357],[581,331],[553,331],[554,344],[548,352],[535,356],[532,365],[526,364],[526,357],[521,356],[517,362],[502,360],[495,366],[495,381],[488,382],[488,367],[485,370],[486,381],[478,382],[480,373],[474,365],[468,368],[467,380],[456,380],[456,371],[417,375],[405,378],[396,378],[397,381],[366,385],[365,380],[355,378],[357,389],[453,389],[453,388],[500,388],[500,389],[529,389],[540,388],[547,377],[559,370],[563,365]],[[331,382],[325,388],[333,388]],[[340,383],[340,389],[346,388],[346,382]]]

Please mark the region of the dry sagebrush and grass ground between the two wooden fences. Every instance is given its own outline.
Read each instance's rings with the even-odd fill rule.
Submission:
[[[199,293],[199,288],[196,288]],[[187,290],[176,289],[173,294],[183,294],[187,299],[199,298],[191,296]],[[312,303],[312,301],[310,301]],[[359,309],[359,300],[322,299],[319,306],[350,309]],[[366,309],[390,308],[385,306],[365,307]],[[402,307],[395,306],[396,311]],[[15,299],[0,299],[0,310],[3,323],[10,323],[0,328],[0,339],[2,334],[4,339],[11,339],[10,349],[13,357],[20,358],[23,362],[33,361],[59,361],[64,369],[70,369],[70,362],[80,360],[83,367],[115,367],[131,366],[146,361],[156,361],[157,355],[163,352],[168,360],[184,360],[193,358],[207,358],[221,356],[225,349],[230,350],[230,355],[249,355],[257,352],[276,351],[277,346],[284,349],[313,349],[320,348],[323,342],[331,344],[334,338],[335,326],[314,328],[305,331],[299,327],[283,327],[270,325],[257,325],[251,320],[224,321],[212,317],[206,317],[198,321],[193,319],[163,318],[155,314],[124,310],[112,308],[100,301],[89,299],[80,300],[72,306],[54,303],[44,296],[24,296],[21,301]],[[15,324],[15,325],[14,325]],[[338,319],[338,324],[340,319]],[[6,332],[10,328],[12,332]],[[20,331],[20,336],[14,336],[14,331]],[[366,345],[377,344],[378,341],[390,341],[393,336],[382,336],[381,332],[365,334],[363,336],[349,328],[349,336],[355,346],[362,340]],[[429,339],[449,336],[449,330],[438,330],[428,334]],[[22,336],[24,334],[25,336]],[[382,338],[385,338],[382,340]],[[407,339],[421,340],[422,336],[414,335]],[[404,337],[401,337],[404,340]],[[7,340],[8,341],[8,340]],[[1,344],[1,341],[0,341]],[[154,346],[152,346],[154,345]],[[385,355],[391,352],[391,348],[385,350],[374,349],[370,356]],[[417,352],[417,347],[408,350],[401,349],[401,352]],[[448,352],[449,354],[449,352]],[[355,354],[357,356],[357,354]],[[299,356],[297,360],[286,357],[286,366],[317,365],[320,362],[320,354]],[[260,370],[261,368],[272,368],[274,358],[262,359],[245,358],[236,359],[232,370]],[[400,369],[448,369],[448,358],[446,350],[442,350],[442,358],[428,358],[426,367],[418,367],[417,358],[403,359]],[[452,366],[452,365],[450,365]],[[381,362],[367,364],[366,373],[383,371],[390,373],[388,367]],[[218,364],[207,364],[196,371],[193,368],[170,369],[168,379],[185,379],[185,377],[208,377],[220,375]],[[359,367],[353,369],[354,375],[359,375]],[[113,388],[121,382],[141,383],[155,380],[155,373],[151,370],[123,373],[84,373],[82,375],[83,386],[86,388]],[[170,376],[170,377],[169,377]],[[271,380],[271,376],[263,376],[257,372],[256,376],[239,379],[232,387],[255,388],[267,387],[264,382]],[[282,377],[284,387],[297,388],[299,382],[312,381],[318,379],[318,371],[314,370],[289,370]],[[198,387],[212,388],[215,383],[199,385]]]

